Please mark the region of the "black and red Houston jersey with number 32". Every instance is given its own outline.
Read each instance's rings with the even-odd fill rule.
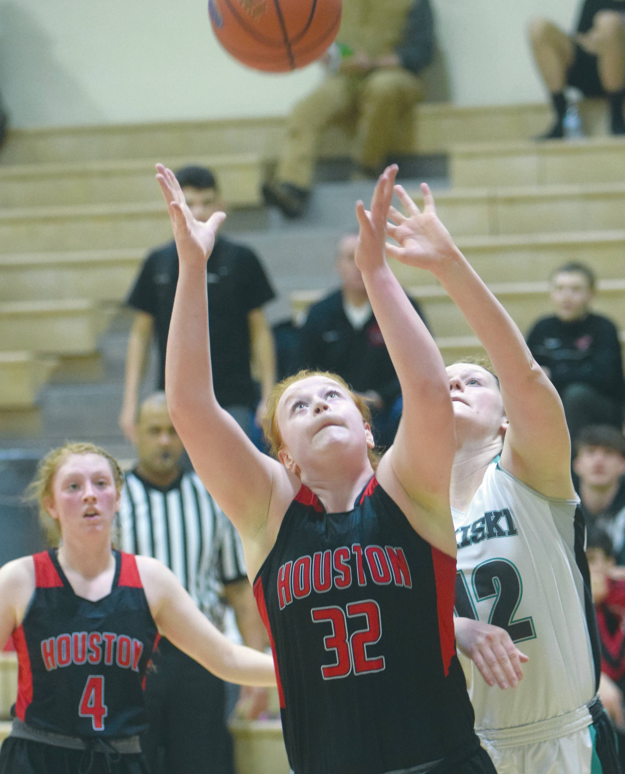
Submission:
[[[375,477],[345,513],[302,486],[254,583],[296,774],[383,774],[472,739],[455,573]]]

